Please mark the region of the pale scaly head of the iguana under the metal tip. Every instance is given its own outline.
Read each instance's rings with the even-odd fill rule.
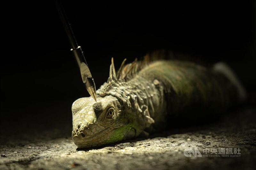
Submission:
[[[113,96],[97,96],[97,102],[92,97],[76,100],[72,105],[74,143],[89,148],[135,137],[132,114],[127,111]]]

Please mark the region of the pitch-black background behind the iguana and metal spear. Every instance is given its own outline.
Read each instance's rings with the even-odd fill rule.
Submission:
[[[96,83],[148,52],[167,49],[227,62],[255,99],[255,1],[63,3]],[[1,129],[69,126],[89,96],[53,2],[1,4]],[[4,132],[2,132],[4,133]],[[65,132],[66,133],[66,132]],[[71,134],[71,133],[70,133]]]

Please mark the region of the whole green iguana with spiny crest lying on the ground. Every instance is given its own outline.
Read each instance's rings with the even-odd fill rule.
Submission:
[[[152,54],[153,58],[157,58]],[[111,60],[108,81],[92,97],[72,105],[73,141],[97,147],[161,130],[172,115],[218,113],[245,98],[235,74],[224,63],[209,69],[180,60],[144,60],[116,72]]]

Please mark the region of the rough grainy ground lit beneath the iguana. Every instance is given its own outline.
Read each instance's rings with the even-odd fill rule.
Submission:
[[[210,124],[84,150],[77,149],[68,133],[62,133],[70,127],[21,133],[19,140],[3,132],[0,169],[254,169],[255,117],[254,109],[231,111]],[[195,151],[195,147],[202,157],[184,155],[185,149]],[[225,148],[224,155],[219,153],[221,148]],[[232,152],[239,148],[241,154],[227,154],[227,148]],[[211,154],[212,149],[217,154]]]

